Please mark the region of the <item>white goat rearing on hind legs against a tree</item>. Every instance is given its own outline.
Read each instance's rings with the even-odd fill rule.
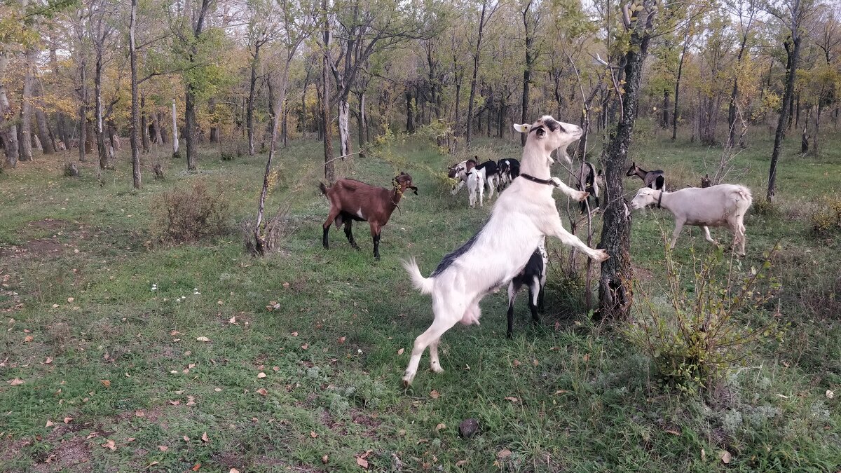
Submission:
[[[552,197],[554,188],[576,200],[587,193],[570,189],[549,174],[552,151],[565,149],[579,139],[577,125],[560,123],[544,116],[533,125],[514,125],[527,133],[521,159],[521,174],[505,193],[500,194],[489,220],[479,233],[448,254],[429,278],[421,275],[415,259],[403,262],[412,282],[423,294],[432,295],[435,321],[415,339],[409,366],[403,376],[408,386],[415,379],[421,354],[429,347],[432,371],[443,371],[438,361],[438,343],[444,332],[457,322],[479,324],[479,300],[500,284],[505,284],[526,266],[544,236],[558,237],[595,261],[608,258],[605,250],[594,250],[563,229]]]

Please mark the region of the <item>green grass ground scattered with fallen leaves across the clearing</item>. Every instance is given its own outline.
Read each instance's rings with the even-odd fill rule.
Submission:
[[[447,193],[429,170],[457,160],[426,142],[399,141],[378,157],[338,163],[340,173],[383,186],[407,171],[420,188],[384,228],[378,263],[364,223],[356,225],[361,252],[335,230],[331,249],[321,247],[327,205],[317,191],[315,142],[294,141],[278,157],[283,172],[267,209],[288,201],[290,228],[283,251],[264,259],[245,254],[237,231],[191,245],[151,242],[161,194],[197,178],[222,180],[232,227],[251,216],[263,156],[221,162],[207,150],[198,174],[167,160],[167,180],[145,173],[140,191],[130,189],[125,157],[102,186],[93,167],[63,177],[61,157],[21,163],[0,175],[0,279],[9,275],[0,310],[12,309],[15,297],[23,302],[4,314],[0,335],[0,469],[361,470],[357,457],[370,450],[369,470],[391,470],[396,455],[408,471],[833,471],[841,419],[838,397],[825,391],[841,396],[833,310],[841,309],[841,237],[813,235],[809,215],[822,194],[841,190],[841,139],[828,139],[819,159],[796,157],[796,144],[786,143],[775,210],[748,215],[741,263],[748,271],[781,242],[772,270],[784,284],[780,312],[791,328],[712,398],[662,385],[617,327],[562,310],[581,303],[569,293],[579,284],[559,280],[561,271],[539,326],[527,322],[521,298],[515,337],[506,339],[505,290],[490,294],[481,326],[444,337],[446,372],[429,372],[425,356],[415,385],[402,389],[431,302],[411,288],[399,259],[417,257],[428,274],[489,212],[469,210],[464,193]],[[479,148],[517,150],[499,141]],[[764,199],[769,151],[770,137],[758,135],[737,158],[750,167],[744,183],[754,202]],[[703,162],[719,152],[653,136],[633,158],[667,175],[675,169],[683,184],[700,182]],[[628,178],[627,189],[639,184]],[[653,295],[662,295],[664,277],[659,228],[670,234],[671,225],[656,211],[634,216],[633,263]],[[728,241],[725,231],[713,232]],[[14,249],[47,243],[56,251]],[[687,261],[693,246],[710,251],[701,232],[687,228],[674,258]],[[280,309],[268,311],[270,302]],[[25,382],[10,385],[14,379]],[[480,425],[472,439],[458,435],[467,418]],[[54,425],[45,427],[48,420]],[[115,450],[102,446],[108,440]]]

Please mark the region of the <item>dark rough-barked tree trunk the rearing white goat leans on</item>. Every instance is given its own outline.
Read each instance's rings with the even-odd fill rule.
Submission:
[[[633,269],[631,266],[631,221],[626,217],[626,205],[622,196],[622,179],[627,169],[627,154],[631,146],[634,120],[637,116],[637,104],[640,83],[643,78],[643,61],[648,54],[648,42],[652,32],[653,0],[643,3],[648,15],[645,20],[648,28],[643,27],[642,12],[637,17],[632,30],[631,44],[625,55],[625,86],[621,100],[622,114],[616,131],[606,147],[605,159],[605,215],[601,230],[599,247],[605,248],[611,258],[601,263],[599,300],[601,315],[613,319],[625,319],[630,316],[632,302]],[[638,49],[637,49],[638,48]]]

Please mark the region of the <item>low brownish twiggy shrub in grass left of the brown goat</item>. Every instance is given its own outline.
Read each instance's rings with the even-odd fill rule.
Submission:
[[[159,242],[196,242],[228,231],[229,207],[225,186],[217,183],[214,191],[204,180],[192,189],[176,189],[163,194],[163,205],[155,205],[153,231]]]

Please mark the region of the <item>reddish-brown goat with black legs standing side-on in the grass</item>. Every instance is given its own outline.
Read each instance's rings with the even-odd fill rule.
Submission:
[[[344,223],[347,241],[358,250],[357,242],[353,241],[352,223],[368,221],[373,238],[373,256],[379,261],[379,232],[389,222],[391,213],[397,208],[406,189],[414,190],[415,195],[418,193],[418,188],[412,185],[412,177],[407,173],[394,176],[391,183],[394,185],[391,190],[373,187],[355,179],[339,179],[329,188],[320,183],[321,192],[330,200],[330,214],[324,221],[324,235],[321,238],[324,247],[330,248],[327,233],[331,223],[335,222],[336,228]]]

